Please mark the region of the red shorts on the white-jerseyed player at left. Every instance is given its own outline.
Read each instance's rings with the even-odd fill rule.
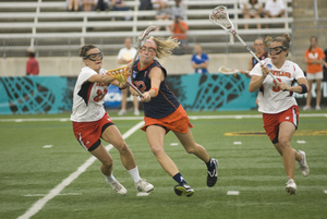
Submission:
[[[113,122],[107,114],[95,122],[73,122],[73,131],[78,143],[88,151],[95,150],[100,144],[102,132]]]

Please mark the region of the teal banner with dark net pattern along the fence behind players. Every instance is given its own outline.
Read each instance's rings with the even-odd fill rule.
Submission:
[[[62,76],[0,77],[0,114],[71,111],[75,82],[76,77]],[[256,108],[257,93],[249,93],[250,78],[242,74],[235,76],[223,74],[169,75],[167,83],[185,110],[250,110]],[[323,104],[327,99],[327,82],[323,82],[322,89]],[[305,101],[305,95],[296,94],[295,97],[300,102]],[[313,93],[313,98],[315,98],[315,93]],[[132,99],[129,98],[130,101]],[[108,94],[105,96],[105,107],[120,109],[121,92],[117,87],[109,86]]]

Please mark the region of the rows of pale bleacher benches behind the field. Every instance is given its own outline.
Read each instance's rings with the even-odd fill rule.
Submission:
[[[286,17],[277,19],[242,19],[239,3],[246,0],[183,0],[187,7],[186,23],[190,52],[192,46],[201,42],[207,52],[238,52],[244,51],[243,46],[235,41],[228,45],[229,35],[208,21],[208,14],[215,7],[228,7],[231,21],[239,35],[245,41],[265,35],[280,35],[291,33],[292,0],[284,0],[287,4]],[[259,0],[265,2],[265,0]],[[100,45],[107,54],[117,54],[122,47],[124,37],[135,39],[148,25],[170,25],[171,21],[156,21],[156,11],[140,11],[138,0],[125,0],[131,11],[117,12],[68,12],[65,1],[59,0],[2,0],[0,2],[0,39],[2,41],[2,57],[24,56],[29,46],[35,46],[38,56],[72,56],[76,54],[81,45]],[[174,1],[169,0],[169,5]],[[124,21],[131,16],[131,21]],[[111,21],[116,17],[116,21]],[[244,23],[250,24],[244,29]],[[270,28],[256,29],[256,23],[269,23]],[[153,32],[154,36],[167,37],[167,31]],[[0,53],[1,56],[1,53]]]

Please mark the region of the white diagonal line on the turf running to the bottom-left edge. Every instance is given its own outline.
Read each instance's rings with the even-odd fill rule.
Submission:
[[[141,129],[144,125],[144,121],[138,122],[136,125],[134,125],[132,129],[130,129],[128,132],[125,132],[122,137],[123,139],[131,136],[134,132],[136,132],[138,129]],[[112,148],[112,145],[106,146],[107,150],[110,150]],[[92,166],[92,163],[96,160],[94,156],[88,158],[82,166],[78,167],[77,171],[73,172],[70,177],[64,179],[60,184],[58,184],[55,188],[52,188],[44,198],[37,200],[24,215],[20,216],[17,219],[28,219],[32,216],[36,215],[43,207],[53,197],[60,194],[60,192],[71,184],[76,178],[80,177],[83,172],[86,171],[86,169]]]

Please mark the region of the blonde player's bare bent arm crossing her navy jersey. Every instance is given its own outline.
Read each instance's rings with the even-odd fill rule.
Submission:
[[[152,69],[148,77],[152,81],[152,88],[148,92],[145,92],[143,94],[142,101],[148,102],[152,100],[152,98],[156,97],[158,95],[160,83],[165,80],[165,74],[160,68],[154,68]]]

